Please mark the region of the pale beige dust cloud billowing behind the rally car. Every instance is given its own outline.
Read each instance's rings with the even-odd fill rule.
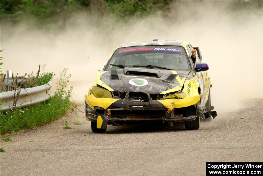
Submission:
[[[209,64],[212,105],[220,111],[239,108],[243,99],[262,98],[262,9],[232,10],[233,2],[176,1],[166,15],[119,21],[114,16],[75,14],[62,28],[1,25],[2,70],[23,75],[45,72],[72,74],[74,99],[84,94],[121,43],[143,40],[185,40],[199,46]]]

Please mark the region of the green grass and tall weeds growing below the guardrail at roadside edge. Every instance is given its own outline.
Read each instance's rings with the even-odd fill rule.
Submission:
[[[0,114],[0,134],[45,125],[67,113],[71,106],[69,99],[73,89],[66,88],[69,78],[67,69],[63,69],[58,79],[57,91],[48,101]]]

